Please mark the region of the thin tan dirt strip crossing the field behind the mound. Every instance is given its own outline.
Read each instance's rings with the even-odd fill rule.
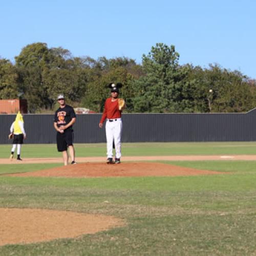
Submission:
[[[201,156],[131,156],[122,157],[122,161],[149,161],[149,160],[169,160],[169,161],[203,161],[203,160],[256,160],[256,155],[201,155]],[[77,157],[78,163],[85,162],[105,162],[105,157]],[[23,161],[1,158],[1,164],[24,164],[24,163],[62,163],[62,158],[24,158]]]

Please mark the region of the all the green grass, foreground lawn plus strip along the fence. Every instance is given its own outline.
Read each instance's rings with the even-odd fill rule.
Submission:
[[[105,156],[105,144],[75,147],[80,157]],[[9,156],[9,148],[10,145],[0,146],[1,158]],[[123,143],[122,153],[244,155],[256,154],[256,143]],[[60,157],[55,145],[26,144],[23,156]],[[61,164],[0,164],[1,208],[72,210],[113,215],[127,223],[76,239],[5,245],[0,247],[0,255],[256,255],[256,161],[162,162],[227,174],[86,179],[7,177],[4,174]]]

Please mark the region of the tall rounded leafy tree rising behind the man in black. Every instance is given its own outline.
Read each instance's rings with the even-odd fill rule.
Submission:
[[[88,68],[66,49],[48,49],[47,44],[37,42],[23,48],[15,60],[20,88],[32,112],[52,110],[59,93],[77,102],[86,91]]]

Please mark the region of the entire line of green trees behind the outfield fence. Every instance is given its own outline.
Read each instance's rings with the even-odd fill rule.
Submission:
[[[179,64],[175,46],[156,44],[141,64],[127,57],[74,57],[43,42],[27,45],[15,63],[0,58],[0,99],[24,98],[31,113],[53,111],[63,93],[75,107],[102,112],[110,82],[121,82],[126,113],[245,112],[256,102],[255,80],[217,64]]]

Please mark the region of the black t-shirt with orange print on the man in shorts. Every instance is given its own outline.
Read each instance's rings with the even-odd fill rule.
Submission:
[[[75,111],[70,105],[66,105],[63,109],[58,108],[55,112],[54,122],[57,126],[68,124],[72,118],[76,117]],[[67,131],[72,130],[72,125],[66,129]]]

